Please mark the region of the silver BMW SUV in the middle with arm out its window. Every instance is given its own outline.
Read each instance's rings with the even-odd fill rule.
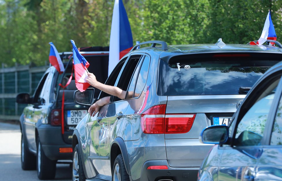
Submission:
[[[76,126],[73,180],[196,180],[212,147],[200,143],[201,131],[229,124],[253,84],[281,61],[277,44],[134,46],[106,81],[134,96],[111,96]]]

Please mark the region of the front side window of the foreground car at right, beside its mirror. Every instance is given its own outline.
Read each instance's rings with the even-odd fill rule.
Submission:
[[[260,145],[279,80],[276,79],[270,85],[264,86],[266,89],[257,95],[255,103],[235,128],[234,146]]]

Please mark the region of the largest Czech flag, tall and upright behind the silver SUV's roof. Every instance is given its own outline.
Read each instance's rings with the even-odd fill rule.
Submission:
[[[127,54],[132,47],[132,33],[123,2],[122,0],[115,0],[110,35],[108,76],[119,60]]]

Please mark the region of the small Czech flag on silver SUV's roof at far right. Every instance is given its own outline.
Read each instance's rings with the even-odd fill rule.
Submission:
[[[255,42],[251,42],[251,45],[261,45],[264,44],[264,42],[266,42],[266,40],[276,40],[276,33],[275,33],[275,29],[271,20],[271,16],[270,16],[270,11],[268,12],[267,16],[266,16],[266,20],[264,23],[264,27],[262,30],[262,35],[260,36],[260,39],[257,41],[257,43]],[[274,43],[271,43],[272,45],[274,45]]]

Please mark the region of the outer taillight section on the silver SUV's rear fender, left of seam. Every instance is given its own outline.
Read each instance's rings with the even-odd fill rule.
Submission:
[[[141,114],[141,128],[146,134],[164,134],[166,104],[150,107]]]

